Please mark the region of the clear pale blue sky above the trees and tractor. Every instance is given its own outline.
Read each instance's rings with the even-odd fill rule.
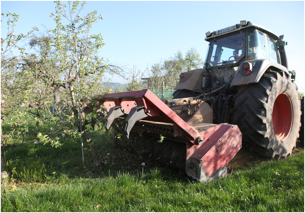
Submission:
[[[284,34],[289,70],[296,71],[300,92],[304,81],[304,2],[303,1],[87,1],[84,14],[97,10],[103,16],[92,33],[103,35],[106,45],[100,56],[111,62],[145,70],[180,50],[196,48],[205,58],[207,31],[215,31],[248,20],[277,35]],[[20,15],[15,33],[37,26],[54,27],[53,1],[1,1],[1,13]],[[1,37],[5,34],[2,18]],[[114,77],[113,82],[125,81]]]

